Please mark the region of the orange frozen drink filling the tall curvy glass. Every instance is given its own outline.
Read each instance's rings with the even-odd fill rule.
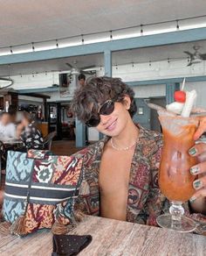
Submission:
[[[196,118],[160,117],[164,146],[161,154],[159,185],[170,201],[186,202],[195,193],[195,176],[189,172],[196,158],[189,155],[194,146]],[[175,124],[174,124],[175,123]]]

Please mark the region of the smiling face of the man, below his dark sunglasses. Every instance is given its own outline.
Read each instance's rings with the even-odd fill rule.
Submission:
[[[129,103],[114,103],[113,112],[108,115],[100,115],[100,124],[96,129],[110,137],[118,136],[127,126],[128,120],[131,119],[128,112]]]

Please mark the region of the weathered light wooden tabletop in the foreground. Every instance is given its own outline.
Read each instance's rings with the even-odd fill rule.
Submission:
[[[166,229],[86,217],[73,234],[91,234],[93,241],[79,256],[205,256],[206,237]],[[1,256],[51,256],[52,233],[25,238],[0,235]]]

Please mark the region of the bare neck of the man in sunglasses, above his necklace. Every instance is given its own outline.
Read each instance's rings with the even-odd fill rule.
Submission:
[[[133,120],[129,120],[125,129],[118,135],[114,136],[113,144],[117,147],[127,147],[134,145],[139,136],[139,129],[134,124]]]

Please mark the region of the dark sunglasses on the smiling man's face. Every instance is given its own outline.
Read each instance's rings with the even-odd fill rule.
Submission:
[[[98,124],[100,124],[100,115],[108,116],[113,113],[114,110],[114,101],[113,100],[107,100],[105,103],[103,103],[100,106],[100,110],[97,113],[97,115],[93,115],[88,121],[86,121],[86,125],[88,127],[96,127]]]

